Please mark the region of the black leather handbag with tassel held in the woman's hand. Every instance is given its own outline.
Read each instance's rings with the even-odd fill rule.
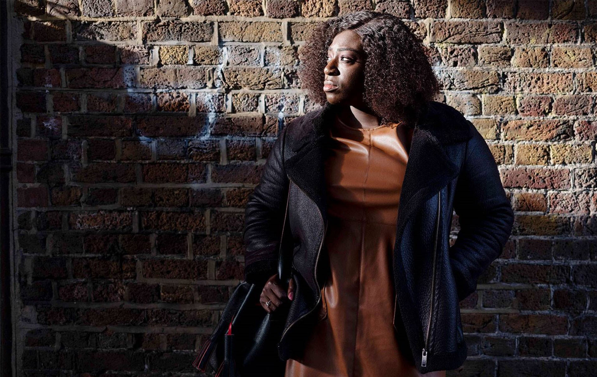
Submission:
[[[289,186],[290,191],[290,186]],[[292,249],[285,226],[288,197],[278,257],[278,277],[288,287]],[[290,243],[292,245],[292,243]],[[285,252],[286,251],[286,252]],[[205,341],[193,366],[205,372],[209,364],[216,377],[284,377],[286,362],[278,356],[278,342],[284,331],[290,303],[285,301],[271,314],[259,302],[263,286],[241,282],[230,296],[220,321]]]

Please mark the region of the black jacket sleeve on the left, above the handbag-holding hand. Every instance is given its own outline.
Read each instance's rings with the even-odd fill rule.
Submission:
[[[278,248],[286,209],[289,180],[282,150],[288,126],[280,132],[267,156],[259,184],[245,207],[245,281],[264,284],[278,273]]]

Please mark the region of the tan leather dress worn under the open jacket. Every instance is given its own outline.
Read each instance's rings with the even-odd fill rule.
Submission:
[[[339,119],[325,160],[330,276],[319,322],[286,377],[421,376],[402,356],[392,320],[392,253],[413,129],[353,128]],[[444,377],[445,371],[424,376]]]

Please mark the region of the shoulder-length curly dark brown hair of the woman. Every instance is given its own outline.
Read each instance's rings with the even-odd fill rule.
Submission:
[[[400,18],[358,11],[318,24],[298,50],[298,77],[309,100],[324,105],[324,67],[334,37],[344,30],[361,36],[365,51],[364,102],[386,124],[414,126],[441,88],[420,38]]]

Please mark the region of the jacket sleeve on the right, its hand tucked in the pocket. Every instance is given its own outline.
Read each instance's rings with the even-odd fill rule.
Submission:
[[[450,247],[458,301],[475,291],[478,277],[503,251],[514,223],[496,160],[479,131],[466,121],[473,137],[467,142],[454,193],[460,231]]]

